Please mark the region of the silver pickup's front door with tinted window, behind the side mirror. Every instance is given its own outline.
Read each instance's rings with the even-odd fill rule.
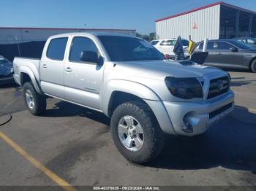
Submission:
[[[80,55],[83,51],[97,52],[98,56],[101,55],[93,39],[86,36],[72,37],[69,58],[64,63],[65,99],[100,109],[99,92],[102,87],[103,66],[81,61]]]

